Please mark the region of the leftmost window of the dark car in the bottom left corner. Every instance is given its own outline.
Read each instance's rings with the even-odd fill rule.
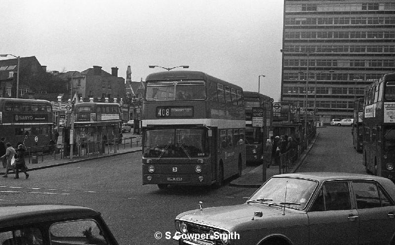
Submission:
[[[42,233],[37,227],[25,227],[0,232],[1,245],[42,245]]]

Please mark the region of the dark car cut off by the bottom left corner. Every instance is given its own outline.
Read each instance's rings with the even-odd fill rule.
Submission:
[[[99,212],[81,206],[0,207],[1,245],[118,245]]]

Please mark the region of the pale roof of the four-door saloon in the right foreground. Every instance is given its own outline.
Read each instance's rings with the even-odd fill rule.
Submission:
[[[294,177],[294,178],[306,178],[316,180],[319,183],[327,180],[374,180],[380,183],[388,194],[391,195],[395,201],[395,185],[390,179],[359,173],[342,173],[342,172],[299,172],[299,173],[286,173],[277,174],[273,177]]]

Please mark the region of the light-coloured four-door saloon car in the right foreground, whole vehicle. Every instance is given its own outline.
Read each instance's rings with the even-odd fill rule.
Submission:
[[[279,174],[244,204],[177,215],[173,239],[179,245],[392,245],[394,199],[395,185],[383,177]]]

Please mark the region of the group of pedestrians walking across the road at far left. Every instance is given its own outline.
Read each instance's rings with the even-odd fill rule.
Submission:
[[[5,138],[0,140],[0,159],[2,159],[3,167],[5,168],[5,174],[2,177],[8,177],[10,170],[14,170],[14,179],[19,178],[19,170],[25,173],[26,178],[29,178],[27,173],[27,166],[25,162],[26,149],[22,144],[18,144],[18,148],[15,150],[11,143],[4,143]],[[12,163],[13,162],[13,163]]]

